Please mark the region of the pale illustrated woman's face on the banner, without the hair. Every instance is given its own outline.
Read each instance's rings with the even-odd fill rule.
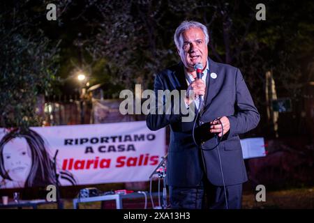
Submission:
[[[3,147],[3,164],[14,181],[26,181],[31,171],[31,150],[24,138],[15,138]]]

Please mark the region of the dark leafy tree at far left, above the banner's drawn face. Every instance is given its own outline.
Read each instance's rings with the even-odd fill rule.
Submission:
[[[0,14],[0,126],[40,125],[38,97],[52,90],[56,80],[57,47],[36,23],[25,3],[4,3]]]

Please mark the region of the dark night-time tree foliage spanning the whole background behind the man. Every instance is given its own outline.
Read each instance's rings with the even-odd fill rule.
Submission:
[[[77,69],[87,70],[90,86],[103,84],[109,98],[135,84],[151,89],[154,74],[179,61],[173,34],[184,20],[207,25],[209,56],[241,69],[260,112],[265,72],[273,71],[278,97],[292,100],[313,76],[311,2],[264,1],[266,21],[257,21],[256,1],[62,0],[56,2],[57,22],[45,20],[49,1],[30,2],[3,3],[0,9],[3,126],[36,120],[30,109],[36,96],[59,91],[58,78],[63,89],[78,89]],[[61,69],[55,75],[58,52],[52,42],[59,39]]]

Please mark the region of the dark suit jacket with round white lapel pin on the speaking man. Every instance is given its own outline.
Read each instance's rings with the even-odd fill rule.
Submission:
[[[216,79],[210,76],[211,72],[216,73]],[[179,187],[199,185],[204,173],[207,173],[207,178],[212,184],[223,185],[218,149],[225,185],[244,183],[247,180],[238,134],[255,128],[260,121],[260,114],[238,68],[209,59],[206,86],[204,109],[197,118],[195,131],[200,146],[196,146],[193,142],[193,121],[182,122],[183,114],[147,115],[147,126],[150,130],[158,130],[170,125],[170,147],[167,156],[168,185]],[[156,75],[155,93],[158,90],[172,91],[187,88],[183,63],[167,68]],[[206,123],[222,116],[229,118],[230,131],[225,134],[218,148],[202,151],[204,154],[202,160],[200,147],[209,149],[216,145],[216,139],[209,132],[209,125]],[[203,167],[206,168],[206,172]]]

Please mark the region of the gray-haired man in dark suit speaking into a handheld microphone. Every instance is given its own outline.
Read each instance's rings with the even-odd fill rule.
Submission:
[[[171,206],[241,208],[247,176],[238,134],[255,128],[260,115],[240,70],[208,57],[206,26],[182,22],[174,41],[181,63],[156,75],[154,91],[157,95],[158,90],[186,90],[186,109],[195,105],[198,114],[190,122],[182,121],[185,115],[181,113],[147,115],[150,130],[170,125],[167,185]],[[204,68],[200,79],[196,64]],[[195,98],[189,97],[191,91]]]

